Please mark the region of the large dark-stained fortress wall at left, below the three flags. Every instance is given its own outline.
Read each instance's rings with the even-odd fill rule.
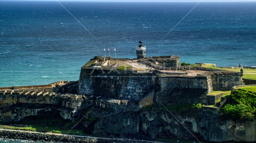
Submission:
[[[121,100],[141,100],[150,90],[151,73],[133,73],[129,70],[82,69],[79,80],[79,94],[97,95]],[[119,72],[119,73],[118,73]],[[100,77],[97,77],[100,75]],[[107,75],[107,78],[104,76]],[[111,79],[113,76],[113,79]],[[117,79],[119,77],[119,80]]]

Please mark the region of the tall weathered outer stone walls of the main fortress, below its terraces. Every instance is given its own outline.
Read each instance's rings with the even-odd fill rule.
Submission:
[[[208,104],[207,95],[212,91],[231,90],[233,86],[244,85],[242,74],[238,72],[203,71],[201,67],[194,69],[138,71],[118,70],[115,66],[84,66],[80,73],[78,93],[128,99],[142,107],[153,104],[144,102],[147,98],[156,104]],[[152,88],[155,92],[147,95]]]

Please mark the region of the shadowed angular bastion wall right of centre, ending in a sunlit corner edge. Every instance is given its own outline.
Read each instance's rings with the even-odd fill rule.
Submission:
[[[157,104],[207,104],[207,94],[212,92],[211,79],[188,77],[161,77],[160,92],[155,94]]]

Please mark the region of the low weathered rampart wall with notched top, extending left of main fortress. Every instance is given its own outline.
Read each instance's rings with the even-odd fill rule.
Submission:
[[[0,121],[19,120],[40,111],[59,111],[64,119],[73,119],[80,110],[94,105],[84,95],[48,91],[8,90],[0,94]]]

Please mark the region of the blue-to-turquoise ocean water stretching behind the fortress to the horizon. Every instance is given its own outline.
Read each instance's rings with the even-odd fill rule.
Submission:
[[[71,2],[0,0],[0,87],[78,80],[110,48],[136,57],[180,55],[186,63],[256,66],[256,2]],[[106,55],[109,55],[106,52]]]

